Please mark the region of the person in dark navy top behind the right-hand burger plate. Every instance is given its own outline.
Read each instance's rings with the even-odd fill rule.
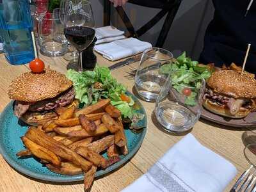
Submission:
[[[243,65],[248,44],[250,54],[245,70],[256,73],[256,1],[212,0],[214,18],[209,24],[204,39],[200,63],[214,63],[221,67],[232,62]],[[245,17],[247,8],[250,8]]]

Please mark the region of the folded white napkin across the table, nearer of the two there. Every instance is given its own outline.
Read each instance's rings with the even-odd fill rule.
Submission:
[[[115,61],[143,52],[150,47],[152,47],[150,43],[131,37],[108,44],[95,45],[94,49],[104,58]]]

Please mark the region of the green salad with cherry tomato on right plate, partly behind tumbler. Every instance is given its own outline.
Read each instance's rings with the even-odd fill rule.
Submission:
[[[163,65],[160,68],[160,71],[164,74],[169,74],[175,70],[179,70],[179,72],[173,73],[173,88],[177,92],[186,95],[185,104],[195,106],[197,91],[201,86],[201,79],[208,79],[211,76],[214,70],[213,66],[199,65],[198,61],[191,60],[191,58],[186,57],[186,52],[183,52],[172,64]]]

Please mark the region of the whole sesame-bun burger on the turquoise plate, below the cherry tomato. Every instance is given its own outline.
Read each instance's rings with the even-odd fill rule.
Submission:
[[[8,95],[15,100],[14,114],[30,125],[38,125],[57,116],[54,109],[71,104],[75,97],[72,81],[64,74],[47,69],[26,72],[13,79]]]

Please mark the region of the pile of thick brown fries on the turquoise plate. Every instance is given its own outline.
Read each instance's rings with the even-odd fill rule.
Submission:
[[[84,190],[92,187],[97,168],[105,169],[127,155],[121,113],[109,99],[92,106],[56,109],[58,118],[38,127],[29,127],[21,138],[26,150],[17,156],[35,156],[55,173],[84,173]],[[108,159],[101,156],[108,154]]]

